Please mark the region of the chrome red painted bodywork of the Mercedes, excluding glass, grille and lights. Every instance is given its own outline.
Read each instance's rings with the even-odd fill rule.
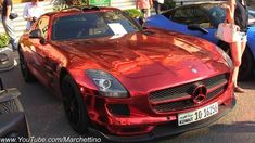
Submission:
[[[39,39],[29,39],[25,34],[21,37],[21,51],[31,73],[59,95],[63,69],[73,77],[84,95],[89,117],[94,126],[103,127],[112,134],[143,134],[152,131],[157,125],[177,121],[177,115],[180,113],[197,109],[214,102],[218,102],[219,105],[231,104],[231,69],[214,44],[156,28],[119,38],[52,41],[52,22],[66,14],[77,14],[77,11],[47,14],[50,16],[48,43],[40,44]],[[102,69],[112,74],[127,89],[129,98],[111,99],[99,95],[98,88],[86,76],[86,69]],[[197,73],[192,73],[192,69]],[[166,113],[153,110],[149,101],[151,92],[219,74],[228,74],[229,80],[227,90],[217,98],[188,109]],[[114,115],[109,110],[107,105],[119,103],[128,106],[129,116]]]

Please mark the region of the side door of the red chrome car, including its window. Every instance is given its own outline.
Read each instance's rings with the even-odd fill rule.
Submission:
[[[58,91],[59,78],[58,69],[62,63],[66,63],[64,53],[52,44],[50,38],[51,23],[49,16],[42,16],[35,29],[41,31],[41,38],[43,41],[39,40],[39,43],[35,46],[36,49],[36,60],[38,62],[38,72],[42,78],[42,82],[53,91]]]

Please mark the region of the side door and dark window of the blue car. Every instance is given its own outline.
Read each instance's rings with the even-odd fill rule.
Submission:
[[[165,14],[170,21],[171,30],[179,31],[187,35],[196,36],[206,39],[212,42],[217,42],[215,38],[216,28],[211,23],[208,12],[206,12],[200,5],[190,5],[176,9],[168,15]],[[199,26],[200,28],[206,29],[208,32],[204,32],[192,26]],[[190,28],[191,27],[191,28]]]

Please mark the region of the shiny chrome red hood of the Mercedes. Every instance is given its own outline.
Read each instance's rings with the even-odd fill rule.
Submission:
[[[90,64],[93,67],[73,63],[76,68],[101,68],[115,77],[138,81],[152,77],[164,80],[166,76],[171,79],[192,78],[190,74],[197,78],[221,73],[221,69],[228,70],[214,44],[160,29],[58,44],[67,50],[69,56],[78,56],[79,63],[93,63]]]

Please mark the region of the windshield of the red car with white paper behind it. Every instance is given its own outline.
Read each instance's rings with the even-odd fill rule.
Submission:
[[[52,40],[91,39],[140,30],[122,11],[67,15],[56,18],[52,26]]]

